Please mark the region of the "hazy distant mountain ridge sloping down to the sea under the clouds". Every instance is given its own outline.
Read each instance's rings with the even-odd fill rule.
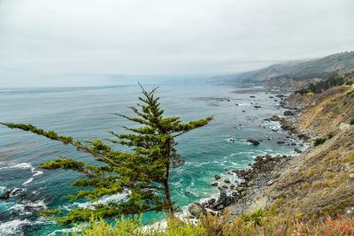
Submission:
[[[208,81],[220,84],[254,84],[279,88],[302,88],[312,80],[354,71],[354,51],[341,52],[313,60],[290,61],[264,69],[214,76]]]

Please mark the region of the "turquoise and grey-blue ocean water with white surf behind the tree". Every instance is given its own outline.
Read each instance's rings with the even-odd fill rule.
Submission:
[[[214,115],[210,125],[177,139],[177,149],[186,164],[173,169],[170,183],[173,200],[182,210],[190,202],[215,194],[217,188],[211,187],[214,175],[227,177],[225,168],[247,168],[258,155],[294,154],[294,146],[276,143],[289,134],[273,132],[272,129],[279,129],[279,124],[263,120],[284,111],[274,98],[269,98],[273,94],[265,91],[247,93],[247,89],[212,85],[161,85],[158,88],[157,95],[161,97],[165,116],[179,116],[189,121]],[[246,92],[240,92],[242,90]],[[132,115],[127,106],[135,105],[140,93],[138,86],[0,88],[0,121],[33,124],[81,140],[110,138],[106,131],[119,133],[122,132],[119,126],[135,126],[111,113]],[[250,95],[256,98],[250,98]],[[256,109],[254,105],[262,108]],[[235,142],[227,142],[230,137]],[[247,139],[263,141],[256,147],[246,142]],[[289,143],[293,142],[292,137],[288,139]],[[0,201],[0,235],[21,232],[25,235],[61,235],[63,229],[50,220],[36,217],[36,209],[65,210],[89,206],[89,202],[68,202],[64,198],[75,191],[68,186],[80,177],[79,174],[38,168],[40,163],[58,156],[92,162],[91,156],[78,153],[73,147],[0,126],[0,194],[9,189],[22,189],[19,194]],[[114,195],[111,199],[123,197]],[[149,213],[143,218],[144,223],[150,223],[153,218],[162,216]]]

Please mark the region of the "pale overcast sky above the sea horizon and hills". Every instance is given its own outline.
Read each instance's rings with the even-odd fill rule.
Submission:
[[[0,87],[207,78],[354,49],[352,0],[0,0]]]

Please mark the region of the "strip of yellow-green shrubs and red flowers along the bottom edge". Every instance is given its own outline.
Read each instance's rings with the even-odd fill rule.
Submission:
[[[351,218],[338,218],[326,221],[305,221],[299,220],[304,214],[296,214],[291,217],[274,216],[262,209],[247,214],[258,216],[244,219],[236,217],[231,220],[228,209],[222,216],[212,216],[208,213],[202,219],[193,224],[189,219],[166,218],[166,226],[147,225],[139,226],[138,221],[121,218],[117,224],[109,225],[103,220],[97,221],[93,218],[89,226],[79,225],[81,232],[73,232],[73,235],[101,235],[101,236],[239,236],[239,235],[339,235],[354,232]]]

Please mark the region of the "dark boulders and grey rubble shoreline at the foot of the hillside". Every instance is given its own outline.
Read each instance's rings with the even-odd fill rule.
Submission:
[[[310,141],[316,133],[306,130],[298,130],[298,122],[296,120],[299,110],[294,107],[286,106],[285,96],[281,97],[281,106],[286,109],[284,118],[273,116],[266,118],[266,121],[276,121],[281,125],[281,129],[289,134],[296,135],[299,140],[304,142]],[[253,145],[255,141],[249,140]],[[258,142],[258,141],[257,141]],[[278,141],[283,144],[284,141]],[[307,148],[304,154],[309,152]],[[303,153],[302,150],[294,148],[297,154]],[[249,164],[249,169],[233,170],[239,180],[231,183],[229,179],[224,179],[224,185],[219,187],[219,198],[209,199],[208,201],[193,202],[189,205],[189,213],[193,217],[200,217],[201,214],[206,214],[208,211],[215,214],[222,214],[226,208],[229,208],[234,217],[240,216],[242,213],[252,212],[259,208],[267,209],[271,206],[277,195],[269,194],[276,185],[278,178],[284,169],[289,167],[289,163],[295,156],[257,156],[253,164]],[[219,180],[220,176],[215,175],[215,180]],[[218,183],[212,183],[213,187],[218,186]],[[226,189],[231,191],[231,195],[226,194]]]

